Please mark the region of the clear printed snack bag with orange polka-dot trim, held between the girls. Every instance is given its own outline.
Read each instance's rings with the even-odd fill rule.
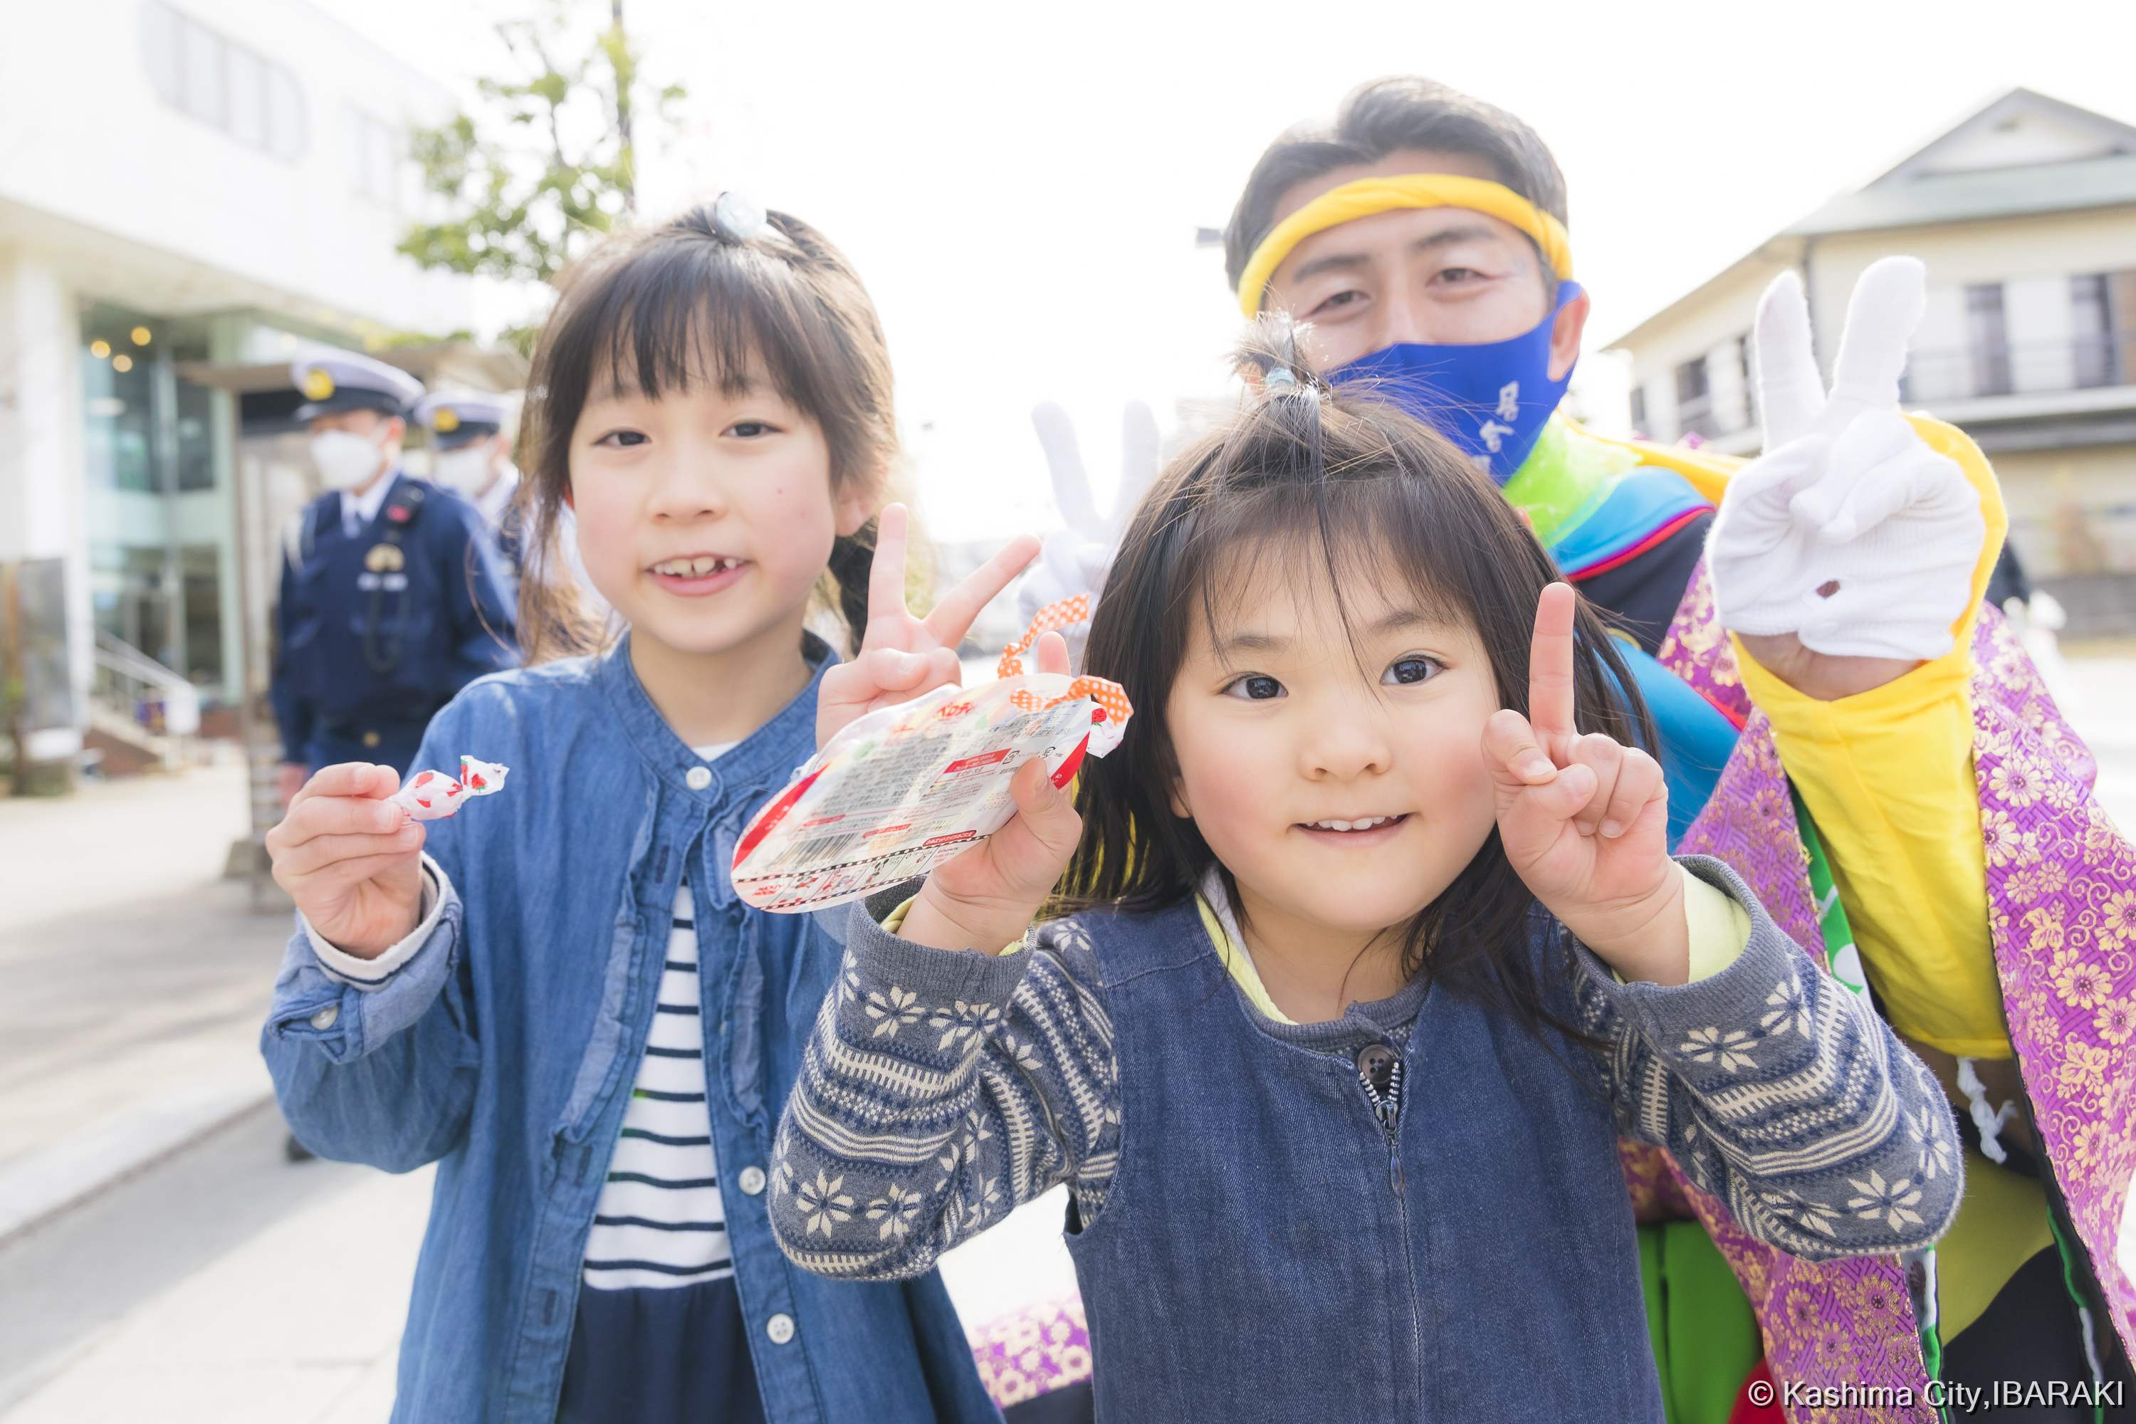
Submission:
[[[1042,619],[1045,615],[1040,615]],[[1008,784],[1042,756],[1055,786],[1083,756],[1119,745],[1134,709],[1119,683],[1023,673],[938,687],[859,717],[812,756],[743,828],[735,892],[758,909],[801,914],[925,875],[1017,813]]]

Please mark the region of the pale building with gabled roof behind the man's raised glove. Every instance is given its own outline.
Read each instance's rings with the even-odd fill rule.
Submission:
[[[1760,292],[1803,273],[1828,369],[1886,254],[1929,267],[1907,408],[1993,459],[2010,542],[2072,632],[2136,632],[2136,126],[2029,90],[1967,115],[1619,337],[1634,429],[1754,455]]]

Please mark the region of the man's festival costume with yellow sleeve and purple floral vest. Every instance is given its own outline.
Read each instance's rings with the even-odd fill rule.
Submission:
[[[1978,594],[2006,527],[1993,472],[1952,427],[1914,425],[1982,495],[1989,540]],[[1606,444],[1581,431],[1572,438]],[[1655,457],[1707,489],[1722,472],[1711,457]],[[2093,760],[2001,613],[1974,602],[1954,632],[1950,655],[1871,694],[1818,702],[1779,683],[1728,636],[1700,561],[1655,662],[1741,734],[1711,794],[1687,807],[1696,816],[1677,852],[1734,867],[1790,937],[1843,982],[1860,984],[1867,969],[1882,1008],[1916,1046],[1982,1059],[2014,1050],[2044,1149],[2042,1174],[2051,1172],[2048,1189],[2066,1202],[2051,1232],[2072,1294],[2089,1298],[2095,1281],[2127,1341],[2136,1289],[2115,1243],[2136,1170],[2136,974],[2127,954],[2136,856],[2093,798]],[[1681,741],[1683,728],[1668,717],[1677,705],[1655,702],[1664,743]],[[1690,722],[1696,745],[1709,745],[1711,726]],[[1895,739],[1912,754],[1871,766],[1848,751],[1850,741]],[[1963,773],[1957,788],[1950,769]],[[1672,801],[1679,790],[1672,777]],[[1897,811],[1880,813],[1884,803]],[[1679,813],[1672,807],[1672,818]],[[1927,839],[1935,828],[1939,845]],[[1982,886],[1984,899],[1972,886]],[[1927,971],[1920,961],[1929,961]],[[2008,1020],[2008,1040],[1999,1020]],[[1625,1142],[1623,1157],[1643,1219],[1692,1215],[1713,1234],[1758,1313],[1771,1375],[1801,1386],[1788,1418],[1937,1418],[1927,1403],[1925,1345],[1937,1351],[1939,1336],[1957,1330],[1920,1328],[1914,1300],[1927,1283],[1910,1283],[1903,1262],[1811,1264],[1775,1253],[1752,1243],[1717,1202],[1685,1189],[1666,1153]],[[1972,1196],[1984,1200],[1982,1166],[1967,1153]],[[2074,1238],[2063,1238],[2063,1221]],[[2019,1223],[2006,1211],[1995,1228]],[[2072,1383],[2115,1377],[2110,1360],[2085,1364]],[[1907,1396],[1912,1407],[1899,1403]]]

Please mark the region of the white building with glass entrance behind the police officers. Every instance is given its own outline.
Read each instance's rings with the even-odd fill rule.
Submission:
[[[98,634],[246,698],[244,583],[271,570],[239,559],[241,448],[295,399],[209,367],[470,325],[466,278],[393,250],[421,203],[406,128],[451,111],[297,0],[0,15],[0,566],[32,758],[81,745]],[[252,474],[276,510],[310,491]]]

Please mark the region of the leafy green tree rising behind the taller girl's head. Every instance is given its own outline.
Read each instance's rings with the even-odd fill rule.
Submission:
[[[423,267],[549,282],[634,216],[632,115],[649,107],[671,128],[688,92],[643,81],[624,0],[611,0],[609,28],[590,38],[570,9],[547,0],[536,17],[500,23],[519,73],[476,81],[478,117],[414,130],[423,184],[449,207],[444,222],[410,224],[399,241]]]

